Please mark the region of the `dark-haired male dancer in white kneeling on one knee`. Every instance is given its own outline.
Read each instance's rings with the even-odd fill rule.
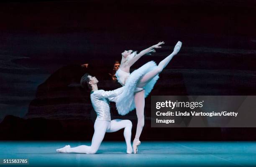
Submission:
[[[71,148],[70,145],[66,145],[61,149],[56,149],[56,152],[95,154],[99,149],[106,132],[116,132],[123,128],[123,135],[125,137],[125,142],[127,145],[126,153],[131,154],[133,152],[131,146],[131,121],[122,119],[111,120],[110,118],[109,101],[115,101],[115,97],[123,92],[123,87],[115,89],[113,91],[98,90],[98,82],[99,81],[95,76],[92,77],[88,73],[84,74],[84,76],[82,76],[81,78],[82,87],[87,84],[88,87],[92,90],[92,106],[97,114],[97,119],[94,123],[94,134],[92,137],[91,146],[81,145]]]

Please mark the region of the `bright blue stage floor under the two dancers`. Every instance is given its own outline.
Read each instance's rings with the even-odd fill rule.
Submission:
[[[256,142],[142,141],[139,154],[126,154],[123,141],[103,142],[97,154],[55,152],[66,144],[76,147],[90,142],[1,141],[0,159],[29,159],[29,165],[23,167],[256,167]]]

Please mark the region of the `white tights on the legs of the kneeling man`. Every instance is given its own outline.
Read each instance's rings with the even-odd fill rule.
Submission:
[[[100,144],[106,132],[116,132],[124,128],[123,135],[127,146],[127,153],[132,153],[131,147],[131,129],[132,123],[130,120],[114,119],[112,121],[95,121],[94,134],[92,137],[91,146],[81,145],[78,147],[64,147],[62,153],[82,153],[95,154],[100,147]],[[59,151],[61,152],[61,150]]]

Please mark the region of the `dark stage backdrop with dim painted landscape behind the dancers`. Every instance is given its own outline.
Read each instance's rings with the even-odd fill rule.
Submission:
[[[118,88],[108,73],[120,53],[159,41],[166,44],[132,70],[183,45],[150,95],[256,95],[255,16],[255,1],[240,0],[0,3],[0,139],[90,140],[96,115],[80,77],[90,72],[100,89]],[[134,111],[111,109],[135,132]],[[145,115],[143,140],[256,139],[255,128],[151,128],[150,96]]]

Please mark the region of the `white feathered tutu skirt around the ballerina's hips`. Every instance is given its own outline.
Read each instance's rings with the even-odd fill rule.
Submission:
[[[148,63],[144,64],[137,70],[134,70],[131,75],[128,77],[125,83],[125,88],[123,93],[120,94],[116,100],[116,108],[120,115],[128,114],[130,111],[135,109],[134,104],[134,92],[136,91],[137,83],[149,71],[152,71],[156,68],[156,63],[154,61],[149,61]],[[145,98],[153,89],[156,81],[158,80],[159,76],[156,75],[151,81],[149,81],[143,89],[145,89]]]

